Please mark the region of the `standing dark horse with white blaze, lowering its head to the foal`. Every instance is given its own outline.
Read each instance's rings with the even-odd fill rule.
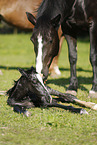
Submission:
[[[96,0],[43,0],[36,18],[27,13],[28,20],[35,25],[31,37],[36,53],[36,70],[48,77],[48,69],[58,54],[58,28],[61,26],[69,48],[70,85],[67,91],[77,92],[76,74],[77,37],[80,31],[90,36],[90,63],[93,68],[93,83],[90,97],[97,98],[97,1]]]

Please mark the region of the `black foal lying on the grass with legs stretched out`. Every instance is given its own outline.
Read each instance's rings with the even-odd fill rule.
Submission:
[[[75,113],[88,114],[88,112],[82,108],[58,104],[56,99],[53,99],[51,95],[58,96],[59,99],[70,103],[76,103],[77,101],[79,103],[80,100],[71,94],[64,94],[45,86],[41,76],[33,67],[26,71],[19,68],[19,71],[21,77],[15,81],[15,85],[7,91],[9,95],[7,103],[14,108],[15,112],[29,116],[29,112],[26,110],[28,108],[59,107]]]

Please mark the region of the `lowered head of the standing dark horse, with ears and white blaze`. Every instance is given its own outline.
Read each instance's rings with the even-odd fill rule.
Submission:
[[[48,77],[49,66],[59,50],[59,38],[56,28],[60,15],[50,21],[45,16],[36,20],[30,13],[27,13],[27,17],[35,25],[31,41],[34,44],[36,53],[36,71],[42,73],[45,80]]]

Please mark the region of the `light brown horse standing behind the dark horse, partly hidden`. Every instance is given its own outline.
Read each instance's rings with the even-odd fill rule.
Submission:
[[[34,25],[28,21],[26,11],[32,13],[36,17],[37,9],[41,2],[42,0],[0,0],[0,20],[18,28],[33,29]],[[59,28],[60,47],[63,41],[61,35],[62,31],[61,28]],[[59,54],[54,58],[50,67],[52,75],[60,75],[58,56]]]

